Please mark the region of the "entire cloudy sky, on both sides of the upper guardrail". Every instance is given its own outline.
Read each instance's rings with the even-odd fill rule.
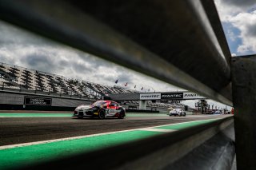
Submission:
[[[232,55],[256,53],[256,0],[215,0],[215,4]],[[115,85],[114,81],[118,79],[120,86],[128,82],[128,89],[134,89],[136,85],[137,90],[143,87],[146,91],[150,89],[150,92],[181,90],[90,54],[50,42],[6,22],[0,21],[0,33],[0,62],[104,85]],[[214,101],[208,102],[216,105]],[[194,106],[194,101],[185,103]]]

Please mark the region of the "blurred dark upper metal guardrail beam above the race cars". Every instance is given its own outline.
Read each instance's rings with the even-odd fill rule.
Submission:
[[[230,52],[212,0],[1,0],[0,18],[232,105]]]

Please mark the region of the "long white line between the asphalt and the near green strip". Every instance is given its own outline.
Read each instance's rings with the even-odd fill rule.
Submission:
[[[218,119],[221,119],[221,118],[218,118]],[[200,121],[210,121],[210,120],[213,121],[213,120],[218,120],[218,119],[215,118],[215,119],[207,119],[207,120],[200,120]],[[197,122],[197,121],[186,121],[186,122],[182,122],[182,123],[168,124],[168,125],[180,125],[180,124],[191,123],[191,122]],[[158,127],[168,126],[168,125],[150,126],[150,127],[146,127],[146,128],[151,129],[151,128],[158,128]],[[107,134],[114,134],[117,132],[130,132],[130,131],[135,131],[135,130],[145,130],[146,128],[134,128],[134,129],[130,129],[130,130],[121,130],[121,131],[115,131],[115,132],[102,132],[102,133],[93,134],[93,135],[66,137],[66,138],[61,138],[61,139],[56,139],[56,140],[42,140],[42,141],[28,142],[28,143],[22,143],[22,144],[8,144],[8,145],[0,146],[0,150],[7,149],[7,148],[30,146],[30,145],[35,145],[35,144],[47,144],[47,143],[51,143],[51,142],[58,142],[58,141],[64,141],[64,140],[76,140],[76,139],[82,139],[82,138],[91,137],[91,136],[102,136],[102,135],[107,135]]]

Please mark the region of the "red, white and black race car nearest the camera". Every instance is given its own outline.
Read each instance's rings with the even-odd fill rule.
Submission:
[[[73,117],[98,117],[99,119],[118,117],[123,119],[126,117],[126,109],[115,101],[96,101],[92,105],[79,105],[74,109]]]

